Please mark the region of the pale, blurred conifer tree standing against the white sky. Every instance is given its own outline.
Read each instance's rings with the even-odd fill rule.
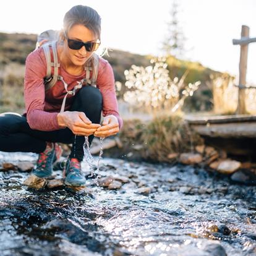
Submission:
[[[182,58],[184,54],[184,43],[186,37],[179,25],[178,14],[179,4],[173,0],[173,6],[169,12],[170,17],[167,25],[167,33],[162,43],[162,50],[165,56],[172,55],[176,58]]]

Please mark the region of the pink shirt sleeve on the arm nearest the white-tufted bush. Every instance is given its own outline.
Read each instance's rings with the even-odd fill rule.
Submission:
[[[103,116],[113,114],[117,117],[119,129],[122,128],[122,118],[119,116],[116,90],[114,87],[114,72],[108,61],[100,63],[97,85],[103,97]]]

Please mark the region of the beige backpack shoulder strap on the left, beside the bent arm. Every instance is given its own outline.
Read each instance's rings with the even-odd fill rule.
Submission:
[[[45,77],[45,90],[48,91],[58,80],[58,72],[60,64],[58,63],[58,54],[57,54],[57,47],[56,47],[57,41],[53,41],[51,43],[44,44],[43,50],[45,52],[45,58],[46,58],[46,65],[47,65],[47,72]],[[51,62],[51,51],[49,46],[51,46],[51,49],[53,49],[53,62]],[[51,74],[51,67],[54,67],[53,75]]]

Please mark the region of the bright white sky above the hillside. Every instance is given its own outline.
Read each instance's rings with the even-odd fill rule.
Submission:
[[[241,26],[256,37],[255,0],[179,0],[178,19],[188,49],[184,59],[239,75]],[[76,4],[101,15],[101,41],[109,49],[161,54],[172,0],[9,0],[0,2],[0,32],[40,33],[61,29],[64,14]],[[1,42],[0,42],[1,43]],[[109,53],[111,54],[111,52]],[[256,43],[249,45],[247,81],[256,85]]]

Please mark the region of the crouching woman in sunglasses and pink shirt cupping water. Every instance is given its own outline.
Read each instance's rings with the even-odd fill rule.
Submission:
[[[117,134],[122,126],[113,69],[105,59],[99,58],[96,88],[82,85],[75,95],[69,93],[84,79],[85,66],[100,45],[100,32],[101,18],[94,9],[72,7],[64,17],[64,27],[56,45],[60,64],[58,72],[62,80],[45,90],[46,56],[41,47],[36,49],[26,59],[26,113],[23,116],[0,116],[0,150],[39,153],[33,169],[33,174],[38,177],[51,176],[53,162],[61,152],[56,142],[72,143],[64,170],[65,183],[83,186],[85,177],[81,174],[80,162],[83,160],[85,136],[90,136],[91,143],[93,136]],[[101,111],[104,117],[100,124]]]

